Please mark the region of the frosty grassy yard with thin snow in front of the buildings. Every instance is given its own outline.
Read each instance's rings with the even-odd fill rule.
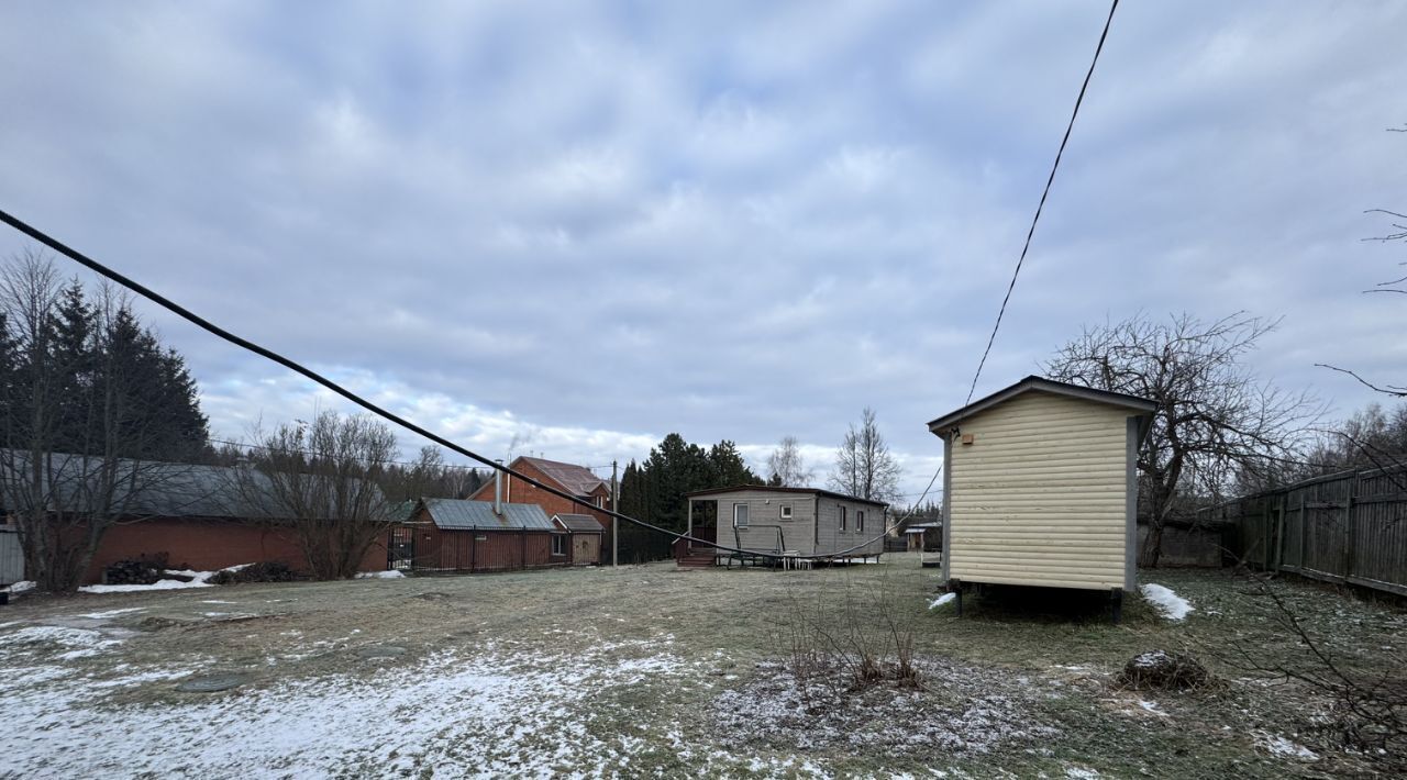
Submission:
[[[886,561],[20,599],[0,610],[0,755],[10,766],[0,776],[1373,770],[1318,722],[1323,697],[1225,662],[1233,641],[1268,661],[1304,654],[1244,579],[1144,572],[1141,582],[1193,603],[1182,623],[1134,599],[1114,625],[1103,602],[1068,593],[969,597],[958,618],[951,606],[927,609],[933,569]],[[1346,663],[1401,670],[1407,613],[1396,604],[1304,582],[1272,587]],[[912,631],[929,690],[881,686],[847,710],[851,720],[825,696],[808,698],[808,711],[768,710],[791,684],[777,666],[787,616],[879,592]],[[1192,652],[1225,684],[1157,694],[1113,686],[1150,649]],[[243,684],[179,690],[217,672]],[[915,738],[893,743],[908,725]]]

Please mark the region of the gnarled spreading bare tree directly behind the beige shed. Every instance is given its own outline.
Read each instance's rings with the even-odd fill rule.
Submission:
[[[1044,364],[1052,379],[1158,405],[1138,455],[1142,565],[1158,565],[1169,521],[1192,521],[1199,503],[1220,500],[1237,479],[1275,479],[1323,415],[1313,396],[1278,389],[1241,365],[1273,327],[1242,313],[1216,322],[1140,316],[1088,327]]]

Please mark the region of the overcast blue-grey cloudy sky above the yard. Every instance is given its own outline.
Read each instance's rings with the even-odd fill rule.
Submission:
[[[917,492],[1107,3],[6,3],[0,207],[485,454],[666,433]],[[978,394],[1085,323],[1404,379],[1404,3],[1124,3]],[[25,242],[6,229],[0,254]],[[1396,274],[1396,275],[1400,275]],[[212,430],[346,409],[142,306]],[[321,401],[319,401],[321,399]],[[407,437],[407,451],[421,443]]]

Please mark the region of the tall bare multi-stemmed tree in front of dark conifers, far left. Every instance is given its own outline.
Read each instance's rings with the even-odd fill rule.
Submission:
[[[180,476],[155,457],[172,440],[159,375],[176,364],[124,297],[103,288],[89,304],[37,252],[0,271],[0,505],[39,589],[69,592],[107,530],[151,514],[151,493]],[[169,378],[189,381],[183,368]]]

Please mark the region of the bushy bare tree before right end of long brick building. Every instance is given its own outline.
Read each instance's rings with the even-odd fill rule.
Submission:
[[[367,415],[321,412],[257,438],[250,465],[234,469],[243,500],[291,528],[312,576],[355,576],[398,520],[380,488],[397,458],[391,429]]]

